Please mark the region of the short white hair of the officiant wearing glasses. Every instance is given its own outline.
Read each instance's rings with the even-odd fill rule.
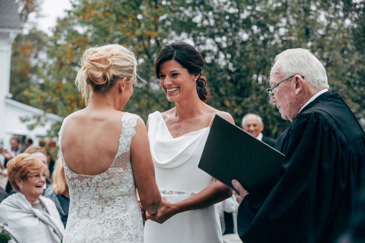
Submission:
[[[278,54],[271,70],[273,74],[282,74],[288,78],[300,74],[314,88],[327,88],[328,81],[326,69],[323,64],[312,54],[311,50],[296,48],[288,49]],[[279,62],[280,61],[280,62]]]

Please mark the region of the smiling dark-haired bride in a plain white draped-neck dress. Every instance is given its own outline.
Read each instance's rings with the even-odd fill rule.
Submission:
[[[156,215],[146,210],[146,243],[222,243],[216,203],[232,190],[198,168],[214,116],[230,114],[205,102],[210,98],[201,54],[185,42],[166,45],[154,65],[156,78],[175,107],[147,121],[156,182],[166,201]],[[229,161],[227,161],[229,162]],[[153,220],[153,221],[152,221]],[[165,222],[165,223],[164,223]],[[163,224],[162,224],[163,223]]]

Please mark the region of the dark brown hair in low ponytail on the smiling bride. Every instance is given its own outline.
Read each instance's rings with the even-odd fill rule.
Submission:
[[[183,68],[186,68],[190,74],[200,74],[196,81],[196,92],[203,102],[207,102],[211,97],[208,88],[208,79],[202,75],[204,70],[204,59],[200,52],[192,45],[185,42],[175,42],[164,46],[158,53],[154,64],[156,78],[160,79],[160,66],[168,60],[175,60]]]

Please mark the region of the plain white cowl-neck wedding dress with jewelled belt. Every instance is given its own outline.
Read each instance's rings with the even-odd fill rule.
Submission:
[[[148,117],[148,138],[161,196],[177,203],[214,183],[198,168],[210,128],[173,138],[161,113]],[[163,224],[147,220],[145,243],[222,243],[216,205],[178,213]]]

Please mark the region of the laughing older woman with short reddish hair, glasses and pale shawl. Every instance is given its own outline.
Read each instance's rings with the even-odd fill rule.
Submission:
[[[8,162],[8,178],[17,193],[0,203],[0,225],[10,242],[60,243],[65,232],[52,200],[42,196],[46,166],[42,161],[22,153]],[[14,240],[14,241],[13,241]]]

